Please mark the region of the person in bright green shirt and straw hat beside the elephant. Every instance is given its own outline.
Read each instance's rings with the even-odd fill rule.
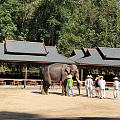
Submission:
[[[72,79],[72,77],[73,76],[71,74],[69,74],[67,76],[68,96],[70,96],[70,90],[72,92],[72,96],[74,96],[74,94],[73,94],[73,88],[72,88],[72,85],[73,85],[73,79]]]

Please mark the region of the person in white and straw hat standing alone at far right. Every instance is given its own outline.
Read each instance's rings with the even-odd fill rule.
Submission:
[[[113,80],[114,80],[114,99],[118,99],[118,97],[119,97],[119,87],[120,87],[120,82],[119,82],[119,79],[118,79],[118,77],[115,77],[115,78],[113,78]]]

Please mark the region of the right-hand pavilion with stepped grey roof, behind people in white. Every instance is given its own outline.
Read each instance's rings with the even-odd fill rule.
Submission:
[[[114,76],[120,75],[119,48],[97,47],[96,49],[73,50],[70,59],[78,63],[81,80],[84,80],[87,74],[93,76],[101,74],[108,81],[111,81]]]

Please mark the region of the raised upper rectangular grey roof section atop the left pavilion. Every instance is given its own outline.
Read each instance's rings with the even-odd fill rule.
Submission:
[[[5,52],[10,54],[47,55],[44,43],[27,41],[5,41]]]

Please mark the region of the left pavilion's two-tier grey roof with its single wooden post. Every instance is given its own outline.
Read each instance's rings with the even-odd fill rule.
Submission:
[[[25,67],[24,88],[26,87],[27,66],[29,64],[75,64],[74,61],[58,54],[55,46],[45,46],[44,43],[40,42],[15,40],[5,40],[0,43],[0,63],[11,63]]]

